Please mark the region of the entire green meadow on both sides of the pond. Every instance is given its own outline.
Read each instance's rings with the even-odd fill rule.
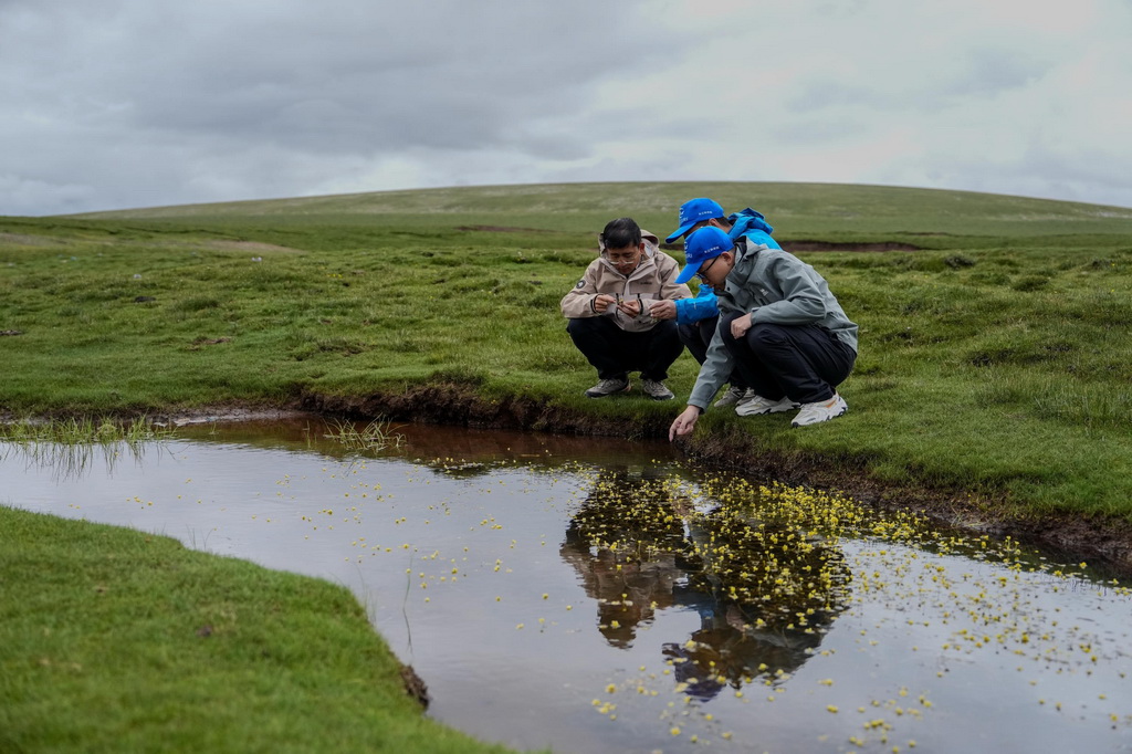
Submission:
[[[1132,522],[1132,209],[1018,197],[608,183],[0,219],[0,412],[97,436],[103,417],[453,394],[663,436],[691,355],[675,402],[590,401],[558,301],[607,221],[663,235],[694,196],[763,212],[861,350],[844,417],[713,410],[691,453]],[[0,751],[486,751],[418,714],[340,588],[2,507],[0,543]]]

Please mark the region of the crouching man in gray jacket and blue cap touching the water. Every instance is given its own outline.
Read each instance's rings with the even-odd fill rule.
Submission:
[[[711,285],[720,320],[669,439],[695,428],[732,368],[757,394],[743,415],[799,409],[791,425],[806,427],[848,410],[835,388],[857,359],[857,325],[824,277],[788,251],[747,238],[732,241],[714,226],[692,233],[684,252],[677,282],[695,275]]]

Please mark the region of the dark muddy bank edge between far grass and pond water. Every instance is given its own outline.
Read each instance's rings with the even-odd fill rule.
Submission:
[[[484,400],[462,385],[421,385],[402,394],[329,396],[303,393],[295,409],[358,418],[384,417],[491,429],[525,429],[559,434],[625,436],[625,426],[526,396]],[[669,420],[634,425],[635,437],[664,437]],[[1115,519],[1083,520],[1065,514],[1040,517],[1013,505],[1004,495],[978,495],[958,488],[893,485],[871,479],[864,463],[806,454],[783,455],[758,446],[757,437],[738,428],[681,440],[679,447],[697,464],[741,471],[765,481],[840,490],[887,511],[914,511],[949,526],[993,537],[1013,537],[1069,562],[1088,562],[1115,576],[1132,576],[1132,525]]]

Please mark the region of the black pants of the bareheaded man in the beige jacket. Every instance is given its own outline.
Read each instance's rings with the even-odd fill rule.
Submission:
[[[621,379],[631,371],[640,371],[642,379],[667,379],[668,368],[684,351],[672,319],[643,333],[626,333],[609,317],[581,317],[571,319],[566,332],[601,379]]]

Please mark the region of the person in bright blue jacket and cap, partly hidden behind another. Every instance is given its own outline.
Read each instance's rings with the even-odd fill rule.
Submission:
[[[678,238],[684,238],[688,233],[706,228],[709,225],[719,228],[732,240],[746,237],[755,243],[764,243],[772,249],[780,249],[778,241],[771,238],[774,229],[766,219],[751,207],[741,212],[724,215],[723,207],[718,202],[706,197],[688,199],[680,205],[680,226],[668,238],[666,243],[672,243]],[[679,326],[680,341],[695,358],[696,362],[703,366],[707,359],[707,346],[711,345],[712,335],[719,324],[719,306],[715,300],[715,292],[711,285],[701,285],[700,293],[694,299],[684,299],[676,302],[676,323]],[[715,401],[715,408],[735,406],[740,415],[746,415],[741,410],[743,403],[755,397],[755,392],[743,382],[743,375],[738,370],[732,370],[729,380],[731,386],[723,394],[723,397]]]

